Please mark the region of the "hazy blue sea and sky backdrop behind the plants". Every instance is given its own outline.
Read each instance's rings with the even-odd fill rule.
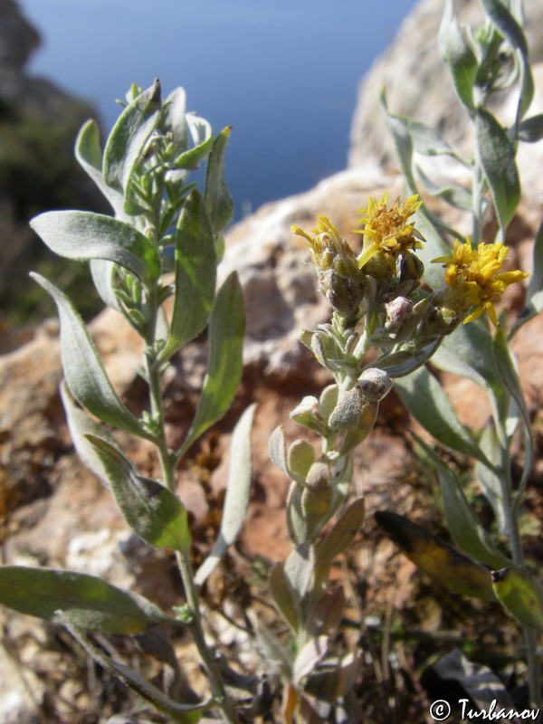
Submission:
[[[29,71],[95,103],[109,129],[132,82],[178,85],[232,125],[236,217],[346,166],[357,83],[414,0],[20,0],[43,35]],[[376,112],[379,110],[376,109]]]

